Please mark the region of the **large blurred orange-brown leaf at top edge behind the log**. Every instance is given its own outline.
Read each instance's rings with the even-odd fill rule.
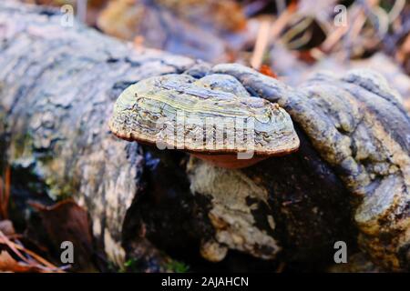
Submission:
[[[229,17],[227,17],[229,14]],[[97,27],[108,35],[178,55],[218,63],[229,60],[254,35],[241,5],[235,1],[134,0],[109,2],[97,19]]]

